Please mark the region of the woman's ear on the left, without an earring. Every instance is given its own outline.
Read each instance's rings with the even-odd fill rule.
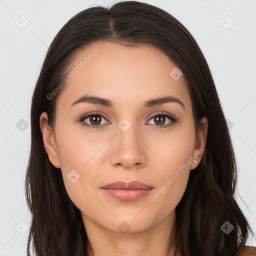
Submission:
[[[48,125],[48,115],[46,112],[40,115],[40,129],[45,151],[48,154],[50,162],[56,167],[60,168],[60,161],[57,153],[55,138],[51,127]]]

